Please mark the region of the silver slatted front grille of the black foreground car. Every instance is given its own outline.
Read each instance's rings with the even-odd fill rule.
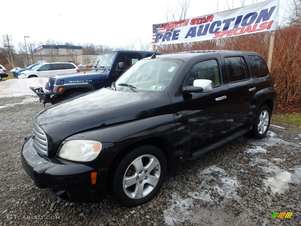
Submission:
[[[33,123],[33,132],[31,137],[33,138],[34,148],[42,155],[47,155],[47,137],[43,130],[35,122]]]

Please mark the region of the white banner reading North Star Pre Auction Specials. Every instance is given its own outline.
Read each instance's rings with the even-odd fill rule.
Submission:
[[[153,44],[197,42],[274,31],[278,25],[279,0],[248,5],[220,13],[153,24]]]

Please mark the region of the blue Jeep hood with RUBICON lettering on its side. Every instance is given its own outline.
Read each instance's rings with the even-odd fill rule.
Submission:
[[[57,75],[52,78],[56,79],[56,84],[68,84],[68,83],[76,83],[76,82],[92,82],[89,80],[93,80],[93,82],[97,82],[95,79],[103,79],[107,78],[108,73],[102,70],[98,71],[88,71],[81,73],[72,73],[72,74],[62,74]]]

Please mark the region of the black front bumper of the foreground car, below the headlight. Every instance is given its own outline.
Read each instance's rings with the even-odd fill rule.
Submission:
[[[26,173],[39,188],[49,188],[60,198],[70,202],[98,202],[105,193],[105,183],[92,184],[87,165],[47,158],[33,147],[28,137],[22,147],[21,162]]]

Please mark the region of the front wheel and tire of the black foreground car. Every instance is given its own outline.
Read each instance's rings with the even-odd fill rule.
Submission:
[[[166,158],[159,148],[142,146],[134,149],[117,167],[112,195],[123,206],[141,205],[158,193],[166,171]]]

